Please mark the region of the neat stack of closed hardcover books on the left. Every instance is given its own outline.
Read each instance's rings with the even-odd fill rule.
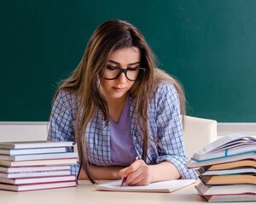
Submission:
[[[43,190],[76,186],[73,142],[0,143],[0,189]]]

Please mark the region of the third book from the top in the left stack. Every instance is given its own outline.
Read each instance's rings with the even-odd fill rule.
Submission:
[[[0,160],[27,161],[27,160],[76,158],[76,157],[78,157],[77,152],[65,152],[65,153],[49,153],[49,154],[36,154],[36,155],[19,155],[19,156],[3,156],[3,155],[0,155]]]

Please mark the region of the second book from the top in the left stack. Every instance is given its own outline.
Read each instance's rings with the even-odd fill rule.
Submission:
[[[66,152],[66,147],[52,147],[52,148],[32,148],[32,149],[2,149],[0,155],[29,155],[29,154],[43,154],[43,153],[61,153]]]

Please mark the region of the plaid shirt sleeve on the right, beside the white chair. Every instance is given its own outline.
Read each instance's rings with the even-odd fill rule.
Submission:
[[[183,148],[183,127],[177,89],[172,84],[162,84],[156,93],[156,125],[160,142],[157,163],[169,161],[182,178],[197,178],[195,171],[185,166],[188,161]]]

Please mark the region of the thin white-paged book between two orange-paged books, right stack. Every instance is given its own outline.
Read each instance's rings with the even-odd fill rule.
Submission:
[[[230,168],[230,169],[223,169],[223,170],[208,170],[205,167],[200,167],[195,169],[195,172],[199,176],[217,176],[217,175],[230,175],[230,174],[237,174],[237,173],[253,173],[256,174],[255,167],[237,167],[237,168]]]

